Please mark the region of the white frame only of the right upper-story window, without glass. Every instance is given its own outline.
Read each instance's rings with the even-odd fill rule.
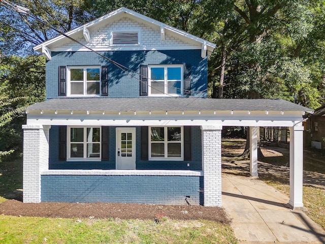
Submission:
[[[168,68],[181,68],[181,94],[168,94],[168,80],[167,69]],[[151,93],[151,68],[164,68],[164,94],[152,94]],[[170,80],[178,81],[178,80]],[[150,97],[182,97],[184,95],[184,65],[149,65],[148,66],[148,96]]]

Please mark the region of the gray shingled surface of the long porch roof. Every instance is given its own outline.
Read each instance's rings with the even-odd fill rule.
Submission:
[[[208,98],[64,98],[50,99],[28,106],[28,110],[91,111],[306,111],[313,110],[282,99],[208,99]]]

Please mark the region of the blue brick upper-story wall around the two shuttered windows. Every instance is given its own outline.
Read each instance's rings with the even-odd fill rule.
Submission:
[[[156,50],[156,51],[103,51],[101,54],[115,62],[140,73],[140,65],[186,64],[191,66],[192,96],[206,97],[208,59],[201,57],[200,50]],[[46,63],[46,98],[58,97],[58,66],[108,65],[109,98],[139,97],[140,81],[127,75],[107,59],[93,52],[52,52],[52,60]],[[133,73],[137,78],[139,74]],[[125,89],[127,88],[127,89]]]

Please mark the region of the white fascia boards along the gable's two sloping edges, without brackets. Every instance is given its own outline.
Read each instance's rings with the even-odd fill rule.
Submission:
[[[172,32],[174,32],[174,33],[176,33],[176,34],[179,34],[179,35],[184,36],[184,37],[186,37],[186,38],[192,39],[192,40],[197,41],[197,42],[199,42],[199,43],[204,43],[204,42],[206,42],[206,43],[207,43],[207,46],[211,47],[212,49],[214,49],[214,48],[216,47],[216,44],[214,44],[214,43],[212,43],[212,42],[208,42],[208,41],[206,41],[206,40],[204,40],[204,39],[202,39],[202,38],[199,38],[199,37],[197,37],[197,36],[191,35],[191,34],[189,34],[189,33],[187,33],[187,32],[181,31],[180,29],[177,29],[177,28],[175,28],[175,27],[172,27],[172,26],[167,25],[167,24],[165,24],[165,23],[162,23],[162,22],[160,22],[160,21],[154,20],[154,19],[152,19],[152,18],[149,18],[149,17],[147,17],[147,16],[144,16],[144,15],[142,15],[142,14],[139,14],[139,13],[137,13],[137,12],[134,12],[134,11],[129,10],[129,9],[127,9],[127,8],[124,8],[124,7],[120,8],[120,9],[117,9],[117,10],[115,10],[115,11],[109,13],[109,14],[106,14],[106,15],[100,17],[100,18],[97,18],[97,19],[95,19],[95,20],[92,20],[92,21],[90,21],[90,22],[88,22],[88,23],[86,23],[86,24],[84,24],[84,25],[81,25],[81,26],[75,28],[75,29],[72,29],[71,31],[69,31],[69,32],[67,32],[67,33],[65,33],[65,34],[66,34],[67,36],[71,36],[71,35],[73,35],[73,34],[75,34],[75,33],[78,33],[78,32],[80,32],[80,31],[83,31],[83,28],[84,28],[84,27],[88,28],[88,27],[90,27],[90,26],[92,26],[92,25],[94,25],[94,24],[96,24],[96,23],[98,23],[98,22],[101,22],[101,21],[103,21],[103,20],[105,20],[105,19],[112,18],[113,16],[116,16],[116,15],[118,15],[118,14],[120,14],[120,13],[126,13],[126,14],[129,14],[129,15],[132,15],[132,16],[138,18],[138,19],[141,19],[141,20],[143,20],[143,21],[146,21],[146,22],[148,22],[148,23],[150,23],[150,24],[154,24],[154,25],[156,25],[156,26],[158,26],[158,27],[160,27],[160,28],[163,27],[164,30],[165,30],[165,32],[166,32],[166,29],[168,29],[168,30],[170,30],[170,31],[172,31]],[[59,41],[59,40],[61,40],[61,39],[63,39],[63,38],[66,38],[66,37],[64,37],[63,35],[57,36],[57,37],[55,37],[55,38],[53,38],[53,39],[51,39],[51,40],[48,40],[48,41],[46,41],[46,42],[43,42],[43,43],[41,43],[41,44],[35,46],[35,47],[34,47],[34,50],[35,50],[35,51],[40,51],[41,48],[42,48],[42,45],[47,46],[47,45],[53,44],[54,42],[57,42],[57,41]]]

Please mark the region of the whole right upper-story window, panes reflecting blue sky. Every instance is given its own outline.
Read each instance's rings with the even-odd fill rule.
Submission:
[[[148,67],[148,96],[183,96],[183,65]]]

